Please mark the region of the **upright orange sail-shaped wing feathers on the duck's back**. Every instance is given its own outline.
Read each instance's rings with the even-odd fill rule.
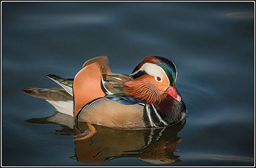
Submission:
[[[73,80],[74,116],[85,104],[105,96],[101,87],[101,78],[102,75],[110,73],[112,72],[106,56],[98,56],[84,63]]]

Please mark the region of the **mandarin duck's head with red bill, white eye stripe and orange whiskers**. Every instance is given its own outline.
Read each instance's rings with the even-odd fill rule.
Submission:
[[[131,97],[143,99],[146,103],[160,104],[167,95],[181,101],[175,87],[177,68],[162,56],[148,56],[131,73],[132,81],[124,83]]]

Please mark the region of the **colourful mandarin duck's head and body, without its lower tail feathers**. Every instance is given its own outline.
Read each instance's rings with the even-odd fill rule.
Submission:
[[[73,95],[73,116],[118,129],[158,128],[179,122],[186,107],[175,87],[177,69],[162,56],[142,60],[131,75],[112,73],[106,56],[84,63],[73,82],[47,75]]]

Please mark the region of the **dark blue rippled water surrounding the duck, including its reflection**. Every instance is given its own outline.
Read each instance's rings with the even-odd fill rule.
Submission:
[[[176,159],[168,166],[255,165],[255,3],[2,5],[3,165],[152,165],[159,146],[169,151],[155,159]],[[186,121],[153,133],[99,127],[94,141],[74,142],[81,124],[49,122],[55,108],[22,91],[59,87],[45,75],[73,78],[102,55],[114,73],[152,55],[175,62]]]

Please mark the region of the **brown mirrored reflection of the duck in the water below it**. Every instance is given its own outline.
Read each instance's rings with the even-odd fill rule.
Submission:
[[[77,122],[72,116],[55,112],[47,118],[32,118],[26,122],[37,124],[59,124],[61,130],[54,134],[74,136],[88,130],[85,122]],[[154,165],[181,161],[174,152],[181,152],[176,145],[183,138],[178,132],[185,126],[185,119],[164,128],[137,130],[117,130],[106,126],[94,125],[97,132],[90,138],[75,140],[75,155],[79,163],[104,163],[113,159],[135,157]]]

